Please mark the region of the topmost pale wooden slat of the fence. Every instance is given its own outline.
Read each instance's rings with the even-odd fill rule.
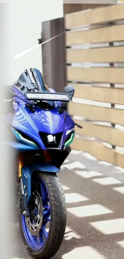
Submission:
[[[65,15],[66,28],[124,19],[124,5],[112,5]]]

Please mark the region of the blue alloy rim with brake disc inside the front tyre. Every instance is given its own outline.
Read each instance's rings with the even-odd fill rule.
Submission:
[[[33,250],[40,250],[46,243],[48,232],[46,232],[46,224],[50,222],[50,206],[49,194],[43,179],[41,181],[40,197],[37,191],[34,192],[34,211],[30,218],[22,215],[22,228],[27,243]]]

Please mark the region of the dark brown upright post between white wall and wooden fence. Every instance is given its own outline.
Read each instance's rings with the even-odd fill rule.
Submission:
[[[64,17],[42,22],[42,42],[65,32]],[[57,92],[66,86],[65,33],[42,45],[43,77],[46,85]]]

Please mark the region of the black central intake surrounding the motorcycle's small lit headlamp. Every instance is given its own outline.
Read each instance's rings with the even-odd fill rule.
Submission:
[[[52,135],[54,137],[53,142],[49,142],[47,137],[48,135]],[[59,148],[59,145],[61,144],[62,132],[57,134],[48,134],[40,131],[39,136],[41,137],[41,140],[46,148]]]

